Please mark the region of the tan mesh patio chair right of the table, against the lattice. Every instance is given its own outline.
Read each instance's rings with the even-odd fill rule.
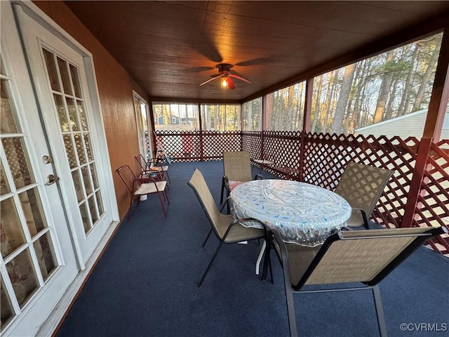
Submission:
[[[375,166],[349,163],[335,187],[335,193],[344,197],[352,207],[348,227],[368,227],[368,220],[384,192],[393,171]]]

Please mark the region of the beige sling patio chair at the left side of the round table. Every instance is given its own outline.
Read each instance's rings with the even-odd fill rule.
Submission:
[[[232,215],[220,213],[220,210],[217,208],[217,204],[215,204],[212,194],[210,193],[206,180],[204,180],[203,174],[201,173],[201,171],[199,171],[199,169],[195,169],[192,178],[190,178],[187,185],[192,187],[192,189],[194,190],[204,213],[206,213],[206,217],[208,218],[208,221],[210,223],[211,231],[214,232],[217,239],[220,240],[220,244],[218,244],[215,253],[210,259],[210,262],[199,281],[198,286],[201,286],[223,244],[233,244],[236,242],[261,239],[265,237],[265,233],[264,230],[244,227],[243,225],[241,225],[241,223],[244,221],[255,221],[255,219],[234,220]],[[206,244],[206,241],[204,242],[204,244]]]

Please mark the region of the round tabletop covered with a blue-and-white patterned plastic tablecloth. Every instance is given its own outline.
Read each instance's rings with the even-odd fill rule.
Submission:
[[[230,194],[236,218],[255,218],[277,230],[286,242],[316,246],[344,227],[351,206],[325,188],[293,180],[263,179],[243,183]],[[261,223],[242,223],[263,227]]]

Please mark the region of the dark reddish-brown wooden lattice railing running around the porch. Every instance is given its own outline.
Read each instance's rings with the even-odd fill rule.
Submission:
[[[264,169],[282,178],[334,190],[349,161],[394,171],[372,220],[385,227],[417,227],[449,223],[449,141],[432,143],[425,158],[417,158],[420,140],[410,137],[306,133],[302,131],[156,131],[158,143],[173,161],[221,160],[223,151],[247,150],[251,159],[274,164]],[[426,161],[424,173],[415,172]],[[257,164],[256,164],[257,165]],[[422,174],[422,177],[413,175]],[[410,195],[412,181],[421,181]],[[404,218],[412,207],[413,216]],[[429,246],[449,256],[449,237],[436,237]]]

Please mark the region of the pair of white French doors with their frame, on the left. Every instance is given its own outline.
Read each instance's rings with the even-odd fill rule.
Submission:
[[[0,6],[0,329],[35,336],[119,216],[91,55],[31,2]]]

